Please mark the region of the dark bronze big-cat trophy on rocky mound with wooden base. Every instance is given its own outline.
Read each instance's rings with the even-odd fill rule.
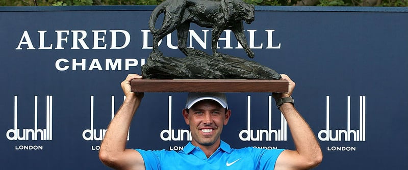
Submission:
[[[161,27],[156,20],[164,14]],[[142,66],[144,79],[131,81],[133,92],[287,92],[288,81],[279,80],[275,70],[259,63],[217,51],[224,30],[231,30],[249,58],[243,22],[254,20],[254,6],[242,0],[185,1],[166,0],[149,19],[153,50]],[[212,29],[212,54],[187,48],[190,23]],[[177,46],[185,58],[165,56],[159,41],[177,31]]]

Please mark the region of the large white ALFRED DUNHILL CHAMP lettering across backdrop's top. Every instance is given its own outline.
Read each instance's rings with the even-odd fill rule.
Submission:
[[[129,46],[132,39],[142,37],[142,50],[152,49],[149,43],[152,41],[150,30],[140,30],[142,35],[131,35],[127,30],[55,30],[54,32],[46,30],[38,30],[37,33],[32,33],[27,30],[22,31],[19,41],[16,40],[15,50],[120,50]],[[211,36],[211,30],[201,30],[202,34],[197,34],[195,30],[189,30],[189,48],[194,48],[193,43],[198,43],[197,47],[201,49],[208,49],[210,41],[207,41]],[[248,43],[251,49],[280,49],[281,43],[273,42],[273,33],[275,30],[265,29],[246,30],[249,34]],[[220,37],[219,42],[224,42],[224,46],[217,48],[222,49],[243,49],[241,44],[237,43],[235,47],[232,46],[232,31],[225,30],[223,32],[225,37]],[[34,36],[35,34],[35,36]],[[38,34],[38,35],[37,35]],[[172,40],[176,36],[175,33],[166,36],[167,43],[159,46],[165,46],[167,49],[177,49],[177,45],[172,44]],[[275,33],[276,34],[276,33]],[[92,36],[88,36],[92,35]],[[257,42],[255,39],[259,36],[267,36],[266,42]],[[120,38],[117,38],[120,37]],[[174,38],[172,38],[174,37]],[[37,40],[37,39],[38,40]],[[50,40],[52,39],[52,40]],[[123,40],[124,39],[124,40]],[[258,38],[259,39],[259,38]],[[46,43],[48,40],[48,43]],[[49,42],[50,41],[50,42]],[[109,41],[109,42],[108,42]],[[108,46],[108,44],[110,44]],[[274,44],[277,44],[274,46]],[[55,60],[55,69],[58,71],[129,71],[137,66],[144,65],[146,59],[79,59],[79,58],[60,58]]]

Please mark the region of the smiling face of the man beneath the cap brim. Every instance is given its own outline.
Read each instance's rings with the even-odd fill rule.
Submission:
[[[226,110],[214,100],[202,100],[195,103],[188,112],[183,110],[184,120],[190,125],[194,146],[219,145],[224,125],[228,123],[231,110]]]

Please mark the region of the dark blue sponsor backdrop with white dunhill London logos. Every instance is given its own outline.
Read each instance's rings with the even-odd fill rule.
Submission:
[[[152,9],[0,8],[4,169],[108,169],[99,144],[123,101],[120,82],[140,74],[151,52]],[[408,10],[256,9],[244,26],[256,53],[248,60],[296,82],[296,108],[324,154],[316,169],[407,169]],[[173,33],[160,49],[183,57],[176,41]],[[188,46],[211,52],[210,41],[211,30],[192,25]],[[237,44],[226,31],[219,51],[247,58]],[[181,116],[186,95],[146,93],[127,147],[182,149],[190,139]],[[221,138],[234,148],[294,149],[270,95],[227,94],[232,117]]]

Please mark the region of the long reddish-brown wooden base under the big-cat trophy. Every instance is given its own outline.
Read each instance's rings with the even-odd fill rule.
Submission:
[[[287,80],[133,79],[132,92],[288,92]]]

